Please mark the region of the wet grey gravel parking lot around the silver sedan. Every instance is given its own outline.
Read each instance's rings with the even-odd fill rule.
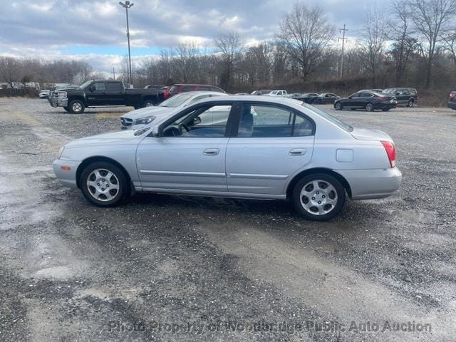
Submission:
[[[51,163],[133,108],[0,99],[0,341],[455,341],[456,112],[321,108],[393,137],[397,195],[324,223],[274,201],[100,209]]]

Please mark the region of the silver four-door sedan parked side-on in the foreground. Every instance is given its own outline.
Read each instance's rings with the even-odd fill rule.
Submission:
[[[230,108],[224,123],[202,124],[201,115],[218,106]],[[74,140],[53,170],[100,207],[133,192],[290,199],[317,221],[341,212],[347,195],[388,197],[401,182],[388,134],[266,96],[206,98],[160,115],[150,128]]]

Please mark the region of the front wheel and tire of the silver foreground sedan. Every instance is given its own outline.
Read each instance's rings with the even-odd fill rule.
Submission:
[[[111,162],[93,162],[86,166],[81,172],[79,187],[88,202],[97,207],[113,207],[128,194],[124,172]]]

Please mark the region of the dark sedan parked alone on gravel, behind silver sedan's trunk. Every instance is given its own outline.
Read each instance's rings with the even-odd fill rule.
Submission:
[[[388,112],[388,110],[397,106],[398,101],[394,96],[385,93],[373,93],[371,91],[360,91],[348,96],[348,98],[339,98],[334,103],[336,110],[366,109],[368,112],[372,112],[375,109]]]

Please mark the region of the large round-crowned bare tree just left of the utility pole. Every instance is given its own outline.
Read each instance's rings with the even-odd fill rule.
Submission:
[[[278,37],[286,46],[291,59],[299,65],[299,76],[306,81],[323,61],[323,51],[333,39],[334,26],[329,24],[323,10],[297,2],[285,14]]]

